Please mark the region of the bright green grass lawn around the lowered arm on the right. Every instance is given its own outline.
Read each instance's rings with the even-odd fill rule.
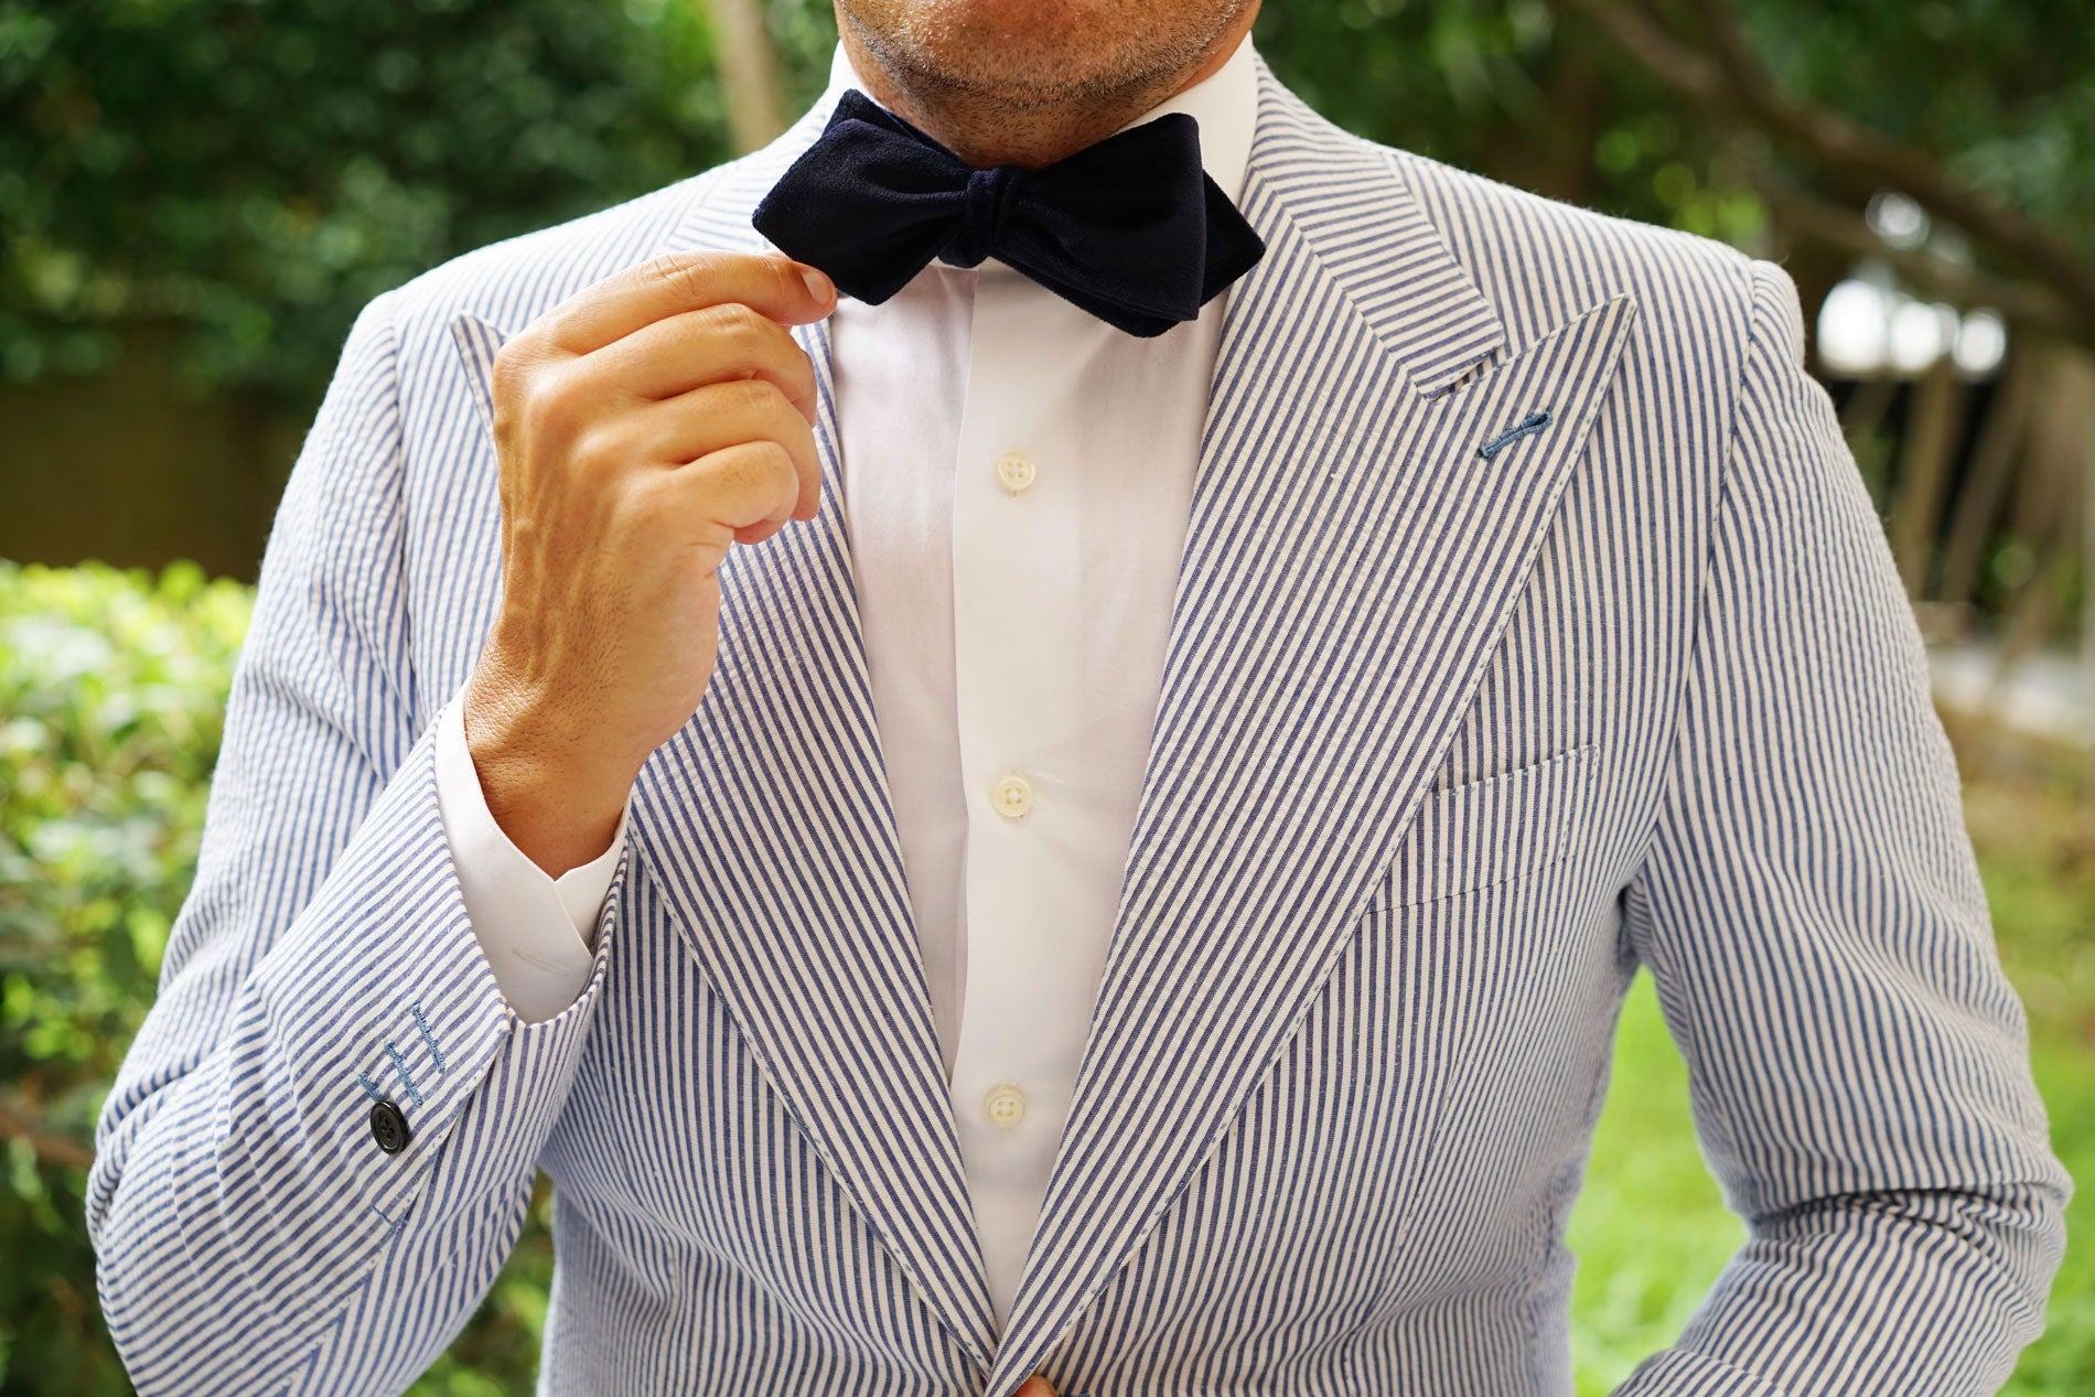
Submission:
[[[2045,1336],[2005,1393],[2095,1395],[2095,827],[2061,790],[1969,785],[1965,815],[1992,905],[2001,963],[2030,1012],[2036,1085],[2053,1148],[2080,1190]],[[1615,1077],[1586,1194],[1571,1345],[1580,1397],[1601,1397],[1686,1324],[1743,1238],[1689,1125],[1686,1068],[1651,978],[1624,1010]]]

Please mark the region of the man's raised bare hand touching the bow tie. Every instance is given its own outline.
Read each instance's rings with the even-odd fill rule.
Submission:
[[[821,509],[815,268],[677,253],[578,291],[494,358],[503,603],[465,685],[488,811],[538,867],[603,852],[698,708],[729,545]]]

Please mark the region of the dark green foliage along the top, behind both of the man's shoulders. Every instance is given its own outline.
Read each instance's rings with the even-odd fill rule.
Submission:
[[[1626,218],[1756,243],[1770,172],[1869,193],[1707,119],[1582,2],[1267,0],[1255,38],[1349,130]],[[2085,0],[1730,8],[1787,92],[2095,258]],[[798,109],[830,0],[765,15]],[[201,387],[310,408],[371,295],[723,159],[712,61],[698,0],[0,0],[0,377],[96,373],[113,327],[174,318]]]

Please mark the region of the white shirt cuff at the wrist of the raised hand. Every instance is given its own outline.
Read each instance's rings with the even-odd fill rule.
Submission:
[[[633,821],[633,800],[618,815],[612,846],[553,878],[517,848],[488,811],[473,752],[465,746],[465,693],[436,718],[436,808],[459,871],[465,915],[494,984],[526,1024],[576,1001],[589,984],[597,913],[612,890],[618,852]]]

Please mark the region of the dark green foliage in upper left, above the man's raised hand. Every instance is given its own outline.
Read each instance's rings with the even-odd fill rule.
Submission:
[[[698,4],[0,4],[0,377],[191,327],[199,381],[308,396],[356,308],[727,153]]]

